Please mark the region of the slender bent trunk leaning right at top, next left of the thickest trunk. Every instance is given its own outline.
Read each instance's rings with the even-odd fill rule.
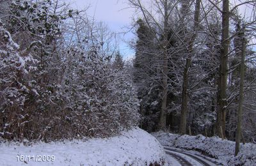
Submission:
[[[194,32],[191,40],[189,40],[188,45],[188,57],[186,58],[186,65],[183,72],[183,84],[182,84],[182,102],[181,102],[181,113],[180,113],[180,133],[186,134],[186,120],[188,112],[188,76],[189,68],[191,66],[191,56],[193,54],[193,43],[196,38],[196,31],[199,25],[199,15],[200,15],[200,0],[196,0],[195,5],[195,17],[194,17]]]

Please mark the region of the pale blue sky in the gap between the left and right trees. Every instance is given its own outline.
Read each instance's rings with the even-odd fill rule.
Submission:
[[[72,0],[72,6],[78,9],[84,9],[86,6],[90,6],[87,10],[87,14],[91,17],[94,16],[97,22],[104,22],[108,25],[111,31],[118,33],[120,40],[120,52],[124,58],[130,58],[134,56],[134,51],[122,40],[128,41],[134,38],[134,35],[130,32],[122,34],[128,30],[128,27],[132,23],[132,14],[134,13],[131,8],[127,8],[129,5],[124,0]]]

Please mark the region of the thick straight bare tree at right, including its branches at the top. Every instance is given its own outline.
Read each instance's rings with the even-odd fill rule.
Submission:
[[[216,8],[218,6],[212,1],[208,0]],[[228,0],[222,1],[222,28],[221,28],[221,53],[220,53],[220,68],[219,68],[219,79],[218,79],[218,93],[217,93],[217,120],[216,120],[216,131],[218,135],[222,138],[225,138],[225,130],[226,130],[226,113],[228,107],[228,98],[227,98],[227,75],[228,75],[228,55],[230,54],[230,40],[234,38],[230,36],[229,27],[230,27],[230,15],[234,13],[234,11],[242,5],[251,4],[253,5],[255,1],[244,1],[242,3],[236,4],[232,9],[230,8],[230,2]],[[254,22],[254,21],[252,21]],[[252,23],[251,22],[251,23]]]

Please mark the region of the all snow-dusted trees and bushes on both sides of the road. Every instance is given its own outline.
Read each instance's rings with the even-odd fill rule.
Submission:
[[[140,126],[256,140],[255,1],[127,1],[115,33],[58,0],[0,0],[0,137],[109,137]]]

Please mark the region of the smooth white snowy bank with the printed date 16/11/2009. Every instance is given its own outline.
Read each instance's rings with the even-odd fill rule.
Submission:
[[[149,165],[162,163],[163,147],[149,133],[134,128],[108,139],[0,144],[0,165]]]

